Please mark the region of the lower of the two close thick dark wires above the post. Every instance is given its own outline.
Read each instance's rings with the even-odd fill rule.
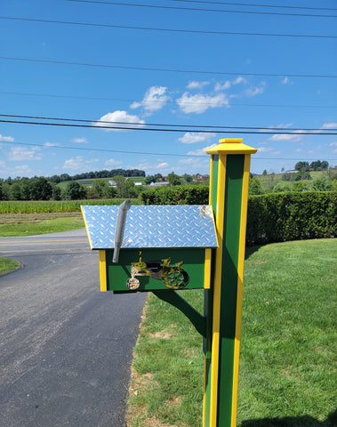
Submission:
[[[51,123],[51,122],[33,122],[33,121],[21,121],[21,120],[4,120],[0,119],[0,123],[12,123],[17,125],[47,125],[47,126],[65,126],[65,127],[84,127],[84,128],[100,128],[100,129],[110,129],[110,130],[128,130],[128,131],[154,131],[154,132],[179,132],[179,133],[187,133],[192,132],[191,129],[163,129],[163,128],[147,128],[144,127],[146,124],[140,125],[124,125],[124,126],[108,126],[108,125],[77,125],[77,124],[69,124],[69,123]],[[143,126],[143,127],[141,127]],[[235,128],[237,129],[237,128]],[[280,131],[281,129],[277,129]],[[324,129],[320,129],[320,131],[324,131]],[[330,131],[330,129],[326,129],[325,131]],[[213,130],[199,130],[198,133],[214,133]],[[249,133],[249,134],[280,134],[280,135],[303,135],[308,133],[303,132],[269,132],[269,131],[217,131],[217,133]],[[333,132],[315,132],[310,133],[310,135],[337,135],[337,133]]]

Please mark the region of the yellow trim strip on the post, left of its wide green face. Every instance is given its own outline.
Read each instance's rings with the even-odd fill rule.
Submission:
[[[212,372],[211,372],[211,402],[210,427],[216,427],[218,412],[218,377],[220,350],[220,307],[221,307],[221,277],[222,277],[222,245],[224,222],[224,194],[226,184],[227,156],[219,157],[216,230],[219,247],[216,249],[214,291],[213,291],[213,334],[212,334]]]

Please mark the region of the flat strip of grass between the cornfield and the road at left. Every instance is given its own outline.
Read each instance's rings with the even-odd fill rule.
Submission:
[[[81,213],[1,214],[0,238],[34,236],[84,228]]]

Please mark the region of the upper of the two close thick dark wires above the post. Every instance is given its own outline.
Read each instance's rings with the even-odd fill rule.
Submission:
[[[110,124],[110,125],[134,125],[134,126],[164,126],[164,127],[181,127],[181,125],[170,125],[170,124],[163,124],[163,123],[141,123],[141,122],[111,122],[110,120],[89,120],[89,119],[82,119],[82,118],[66,118],[66,117],[41,117],[41,116],[22,116],[22,115],[13,115],[13,114],[0,114],[0,117],[18,117],[18,118],[31,118],[31,119],[39,119],[39,120],[55,120],[55,121],[66,121],[66,122],[81,122],[81,123],[99,123],[99,124]],[[329,128],[329,129],[317,129],[317,128],[303,128],[303,127],[287,127],[287,128],[280,128],[280,127],[263,127],[263,126],[224,126],[224,125],[186,125],[186,127],[193,127],[193,128],[211,128],[211,129],[254,129],[259,131],[300,131],[300,134],[302,131],[337,131],[335,128]],[[260,132],[259,132],[260,133]],[[284,132],[281,132],[284,133]],[[293,134],[293,133],[292,133]]]

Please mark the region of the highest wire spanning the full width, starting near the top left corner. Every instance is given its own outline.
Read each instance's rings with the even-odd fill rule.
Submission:
[[[79,25],[87,27],[102,27],[102,28],[124,28],[124,29],[140,29],[144,31],[164,31],[174,33],[190,33],[190,34],[212,34],[217,36],[274,36],[274,37],[300,37],[300,38],[337,38],[337,36],[319,36],[313,34],[275,34],[275,33],[246,33],[234,31],[211,31],[203,29],[179,29],[179,28],[153,28],[153,27],[136,27],[131,25],[115,25],[115,24],[99,24],[94,22],[76,22],[69,20],[38,20],[33,18],[18,18],[13,16],[0,16],[1,20],[25,20],[30,22],[44,22],[49,24],[66,24]]]

